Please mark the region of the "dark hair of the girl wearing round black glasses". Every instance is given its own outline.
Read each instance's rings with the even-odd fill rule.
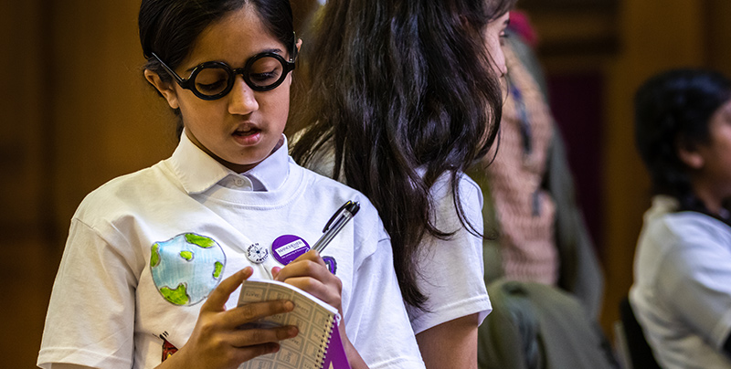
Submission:
[[[147,59],[144,69],[157,73],[164,82],[172,82],[152,53],[170,68],[177,68],[207,26],[244,5],[254,6],[264,26],[283,45],[294,45],[289,0],[143,0],[138,26],[143,56]],[[180,111],[175,110],[175,114]],[[178,133],[182,129],[182,121],[178,121]]]

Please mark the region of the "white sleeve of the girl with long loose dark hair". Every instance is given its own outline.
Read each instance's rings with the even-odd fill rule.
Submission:
[[[479,322],[493,310],[484,285],[482,237],[463,227],[454,207],[454,196],[444,174],[431,195],[438,229],[455,232],[449,239],[427,235],[419,255],[418,287],[427,295],[426,309],[408,307],[414,332],[443,322],[478,314]],[[458,176],[460,202],[472,227],[482,234],[482,191],[464,174]]]

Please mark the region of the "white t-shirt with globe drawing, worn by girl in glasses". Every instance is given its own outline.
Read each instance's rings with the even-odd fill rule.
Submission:
[[[247,266],[266,278],[276,261],[253,265],[251,243],[270,248],[275,238],[295,235],[312,246],[347,200],[361,209],[322,255],[343,283],[348,338],[372,368],[423,368],[390,241],[364,195],[303,169],[286,149],[247,174],[232,173],[185,134],[171,158],[102,185],[79,206],[37,364],[160,364],[165,345],[187,341],[221,279]],[[237,300],[238,290],[227,308]]]

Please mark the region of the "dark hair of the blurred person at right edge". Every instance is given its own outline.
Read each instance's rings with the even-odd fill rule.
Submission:
[[[708,213],[694,194],[678,145],[708,143],[708,123],[730,98],[731,81],[704,69],[665,71],[637,91],[635,142],[652,178],[654,194],[673,196],[681,210]]]

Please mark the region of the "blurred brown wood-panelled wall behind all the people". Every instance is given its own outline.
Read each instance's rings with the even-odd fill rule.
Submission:
[[[292,0],[300,14],[314,1]],[[728,0],[520,0],[606,277],[611,337],[632,282],[649,180],[631,98],[682,66],[731,74]],[[143,79],[137,1],[0,5],[0,357],[35,367],[69,219],[91,190],[172,153],[174,122]],[[304,40],[306,47],[307,40]],[[93,277],[93,276],[90,276]]]

